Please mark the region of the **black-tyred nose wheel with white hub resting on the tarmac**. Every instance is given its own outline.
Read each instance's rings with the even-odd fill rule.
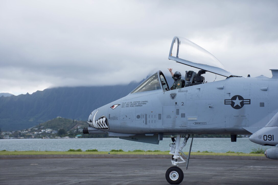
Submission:
[[[177,166],[172,166],[166,171],[165,177],[170,184],[180,184],[183,180],[183,171]]]

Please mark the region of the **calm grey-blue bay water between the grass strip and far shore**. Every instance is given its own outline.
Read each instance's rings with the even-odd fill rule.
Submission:
[[[188,151],[191,138],[188,139],[187,146],[183,149]],[[119,138],[80,138],[80,139],[0,139],[0,151],[68,151],[69,149],[97,149],[98,151],[109,152],[112,149],[122,149],[123,151],[133,150],[170,150],[171,138],[163,138],[159,145],[142,142],[127,141]],[[249,141],[248,138],[237,138],[237,142],[231,142],[230,138],[194,138],[192,151],[227,151],[250,153],[252,149],[270,148],[260,146]]]

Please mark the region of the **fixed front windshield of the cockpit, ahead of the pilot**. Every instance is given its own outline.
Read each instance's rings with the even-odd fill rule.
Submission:
[[[162,89],[162,87],[163,87],[163,91],[169,90],[167,81],[163,73],[161,71],[158,71],[157,73],[151,75],[147,80],[145,80],[142,84],[140,84],[131,93],[159,90]]]

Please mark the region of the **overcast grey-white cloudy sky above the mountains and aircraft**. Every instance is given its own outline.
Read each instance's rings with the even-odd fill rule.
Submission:
[[[174,36],[232,73],[278,69],[278,1],[0,0],[0,92],[127,84],[161,70]],[[169,82],[172,83],[172,82]]]

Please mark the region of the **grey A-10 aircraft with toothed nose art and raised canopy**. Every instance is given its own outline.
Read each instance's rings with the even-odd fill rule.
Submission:
[[[278,69],[270,69],[271,78],[235,76],[208,51],[181,37],[173,38],[168,59],[200,71],[186,71],[185,87],[173,90],[157,71],[127,96],[95,109],[83,133],[153,144],[163,134],[177,135],[170,144],[173,166],[165,174],[170,184],[183,180],[178,164],[186,162],[187,169],[194,134],[230,134],[232,142],[237,134],[252,134],[250,141],[276,146],[265,156],[278,159]],[[207,83],[206,72],[227,78]],[[189,154],[184,155],[190,136]]]

